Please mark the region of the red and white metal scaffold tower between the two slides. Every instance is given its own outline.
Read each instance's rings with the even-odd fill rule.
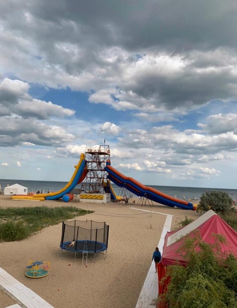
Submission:
[[[81,184],[81,191],[86,194],[104,194],[103,183],[107,181],[107,172],[104,168],[108,159],[110,159],[110,147],[108,145],[85,150],[88,173]]]

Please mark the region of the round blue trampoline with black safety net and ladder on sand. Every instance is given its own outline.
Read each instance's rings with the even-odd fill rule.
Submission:
[[[109,225],[93,220],[63,221],[60,242],[61,251],[97,254],[106,253],[108,248]],[[83,263],[82,257],[82,263]]]

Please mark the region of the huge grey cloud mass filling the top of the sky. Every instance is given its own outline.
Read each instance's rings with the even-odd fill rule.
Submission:
[[[0,11],[2,50],[22,79],[85,91],[118,86],[168,110],[237,97],[234,0],[9,0]],[[181,67],[164,74],[162,54]],[[140,58],[147,69],[133,72]]]

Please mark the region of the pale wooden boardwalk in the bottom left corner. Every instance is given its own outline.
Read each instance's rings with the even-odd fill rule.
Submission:
[[[8,306],[10,308],[53,308],[39,295],[27,288],[20,281],[9,275],[0,267],[0,288],[12,297],[18,304]],[[17,306],[18,305],[18,306]]]

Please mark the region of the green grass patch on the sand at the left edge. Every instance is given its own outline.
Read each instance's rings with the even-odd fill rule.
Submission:
[[[20,241],[45,227],[92,212],[75,206],[0,208],[0,241]]]

